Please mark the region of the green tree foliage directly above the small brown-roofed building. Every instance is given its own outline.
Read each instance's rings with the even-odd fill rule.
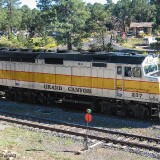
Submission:
[[[126,31],[130,22],[154,22],[156,5],[148,0],[121,0],[114,7],[112,16],[116,17],[114,28]],[[118,22],[118,24],[117,24]]]

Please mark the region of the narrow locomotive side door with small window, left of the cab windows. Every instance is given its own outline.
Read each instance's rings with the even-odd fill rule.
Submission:
[[[115,68],[115,98],[124,97],[124,70],[122,66]]]

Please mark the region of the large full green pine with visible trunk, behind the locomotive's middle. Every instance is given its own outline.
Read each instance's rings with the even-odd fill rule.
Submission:
[[[81,0],[59,0],[52,9],[56,40],[60,44],[67,44],[68,50],[72,50],[72,45],[77,46],[84,36],[88,17],[86,5]]]

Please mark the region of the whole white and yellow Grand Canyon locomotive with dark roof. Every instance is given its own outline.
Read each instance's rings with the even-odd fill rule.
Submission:
[[[160,117],[160,71],[153,55],[0,51],[0,88],[10,100],[61,100],[104,113]]]

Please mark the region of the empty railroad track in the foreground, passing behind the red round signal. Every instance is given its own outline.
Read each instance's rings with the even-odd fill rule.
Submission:
[[[160,153],[160,139],[158,138],[139,136],[109,129],[79,126],[19,114],[7,114],[4,112],[1,112],[0,120],[80,137],[86,137],[87,132],[89,139],[102,141],[105,144],[129,146]]]

